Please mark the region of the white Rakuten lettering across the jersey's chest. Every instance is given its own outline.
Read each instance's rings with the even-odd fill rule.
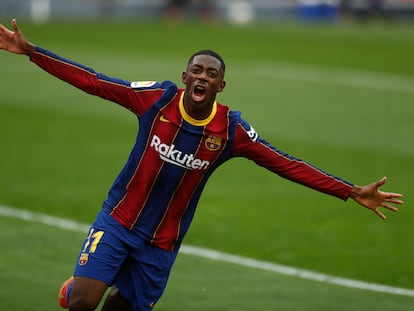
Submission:
[[[150,147],[158,152],[160,158],[168,163],[177,165],[190,170],[205,170],[210,165],[209,161],[194,158],[194,154],[186,154],[175,149],[175,145],[167,145],[161,142],[161,139],[154,135]]]

